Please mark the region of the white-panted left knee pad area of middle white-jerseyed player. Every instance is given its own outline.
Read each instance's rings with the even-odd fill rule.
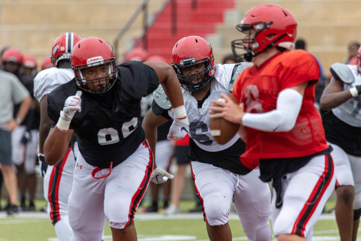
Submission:
[[[211,194],[203,199],[204,212],[211,226],[227,223],[229,208],[225,207],[222,197],[219,194]]]

